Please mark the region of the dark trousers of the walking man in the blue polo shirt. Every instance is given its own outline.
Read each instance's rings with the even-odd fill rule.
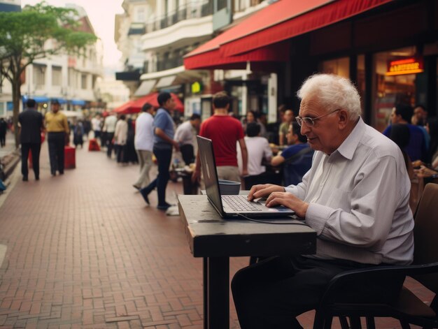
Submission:
[[[167,182],[169,182],[169,166],[172,158],[172,149],[158,149],[153,148],[155,158],[157,158],[158,163],[158,175],[155,180],[150,182],[150,184],[143,190],[146,194],[150,193],[157,187],[158,205],[164,206],[166,203],[166,187]]]

